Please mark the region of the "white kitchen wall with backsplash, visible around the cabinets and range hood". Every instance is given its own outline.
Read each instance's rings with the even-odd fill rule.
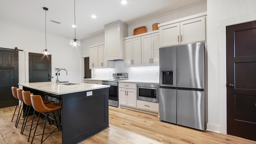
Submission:
[[[128,36],[133,35],[134,28],[146,26],[147,32],[152,31],[152,24],[163,23],[186,16],[191,16],[201,12],[206,12],[206,2],[200,2],[190,6],[185,6],[176,10],[172,10],[165,14],[154,16],[150,19],[140,20],[132,24],[128,24]],[[89,56],[89,46],[104,43],[104,33],[92,36],[82,40],[82,57]],[[84,61],[81,58],[82,70],[84,70]],[[128,72],[129,79],[132,80],[159,80],[159,67],[143,67],[143,68],[125,68],[123,61],[116,61],[113,69],[94,69],[92,70],[92,78],[112,78],[112,73]],[[82,71],[83,72],[83,71]],[[83,76],[82,76],[83,77]]]

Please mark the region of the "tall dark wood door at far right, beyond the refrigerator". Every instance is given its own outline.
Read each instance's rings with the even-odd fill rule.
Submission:
[[[226,27],[227,133],[256,140],[256,21]]]

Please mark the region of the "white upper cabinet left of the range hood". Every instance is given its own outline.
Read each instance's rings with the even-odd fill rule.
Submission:
[[[89,47],[89,68],[114,68],[113,61],[107,61],[105,45]]]

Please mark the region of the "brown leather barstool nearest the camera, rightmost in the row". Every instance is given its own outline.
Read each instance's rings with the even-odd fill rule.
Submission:
[[[44,119],[44,129],[43,129],[43,133],[42,133],[42,139],[41,139],[41,144],[42,142],[44,142],[44,140],[46,138],[48,138],[49,136],[47,136],[44,140],[44,130],[45,130],[45,126],[46,126],[46,120],[48,119],[48,114],[49,112],[54,112],[54,111],[58,111],[58,110],[61,110],[62,109],[62,105],[61,104],[57,104],[57,103],[52,103],[52,104],[44,104],[43,100],[42,100],[42,97],[39,96],[39,95],[33,95],[33,94],[30,94],[30,98],[31,98],[31,102],[32,102],[32,106],[34,108],[34,110],[36,110],[37,112],[40,112],[39,113],[39,116],[38,116],[38,120],[37,120],[37,123],[36,123],[36,128],[38,126],[38,122],[39,122],[39,119],[40,119],[40,114],[41,113],[46,113],[46,116],[45,116],[45,119]],[[54,113],[53,113],[54,114]],[[56,119],[55,119],[56,121]],[[56,121],[56,126],[58,127],[58,124],[57,124],[57,121]],[[57,128],[54,129],[53,132],[55,132]],[[50,132],[52,134],[52,132]],[[32,138],[32,141],[31,141],[31,144],[34,140],[34,136],[36,134],[36,129],[34,131],[34,135],[33,135],[33,138]],[[41,134],[39,134],[41,135]]]

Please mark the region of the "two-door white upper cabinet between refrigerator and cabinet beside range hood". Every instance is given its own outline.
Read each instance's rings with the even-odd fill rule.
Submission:
[[[159,65],[159,33],[148,34],[141,37],[142,66]]]

